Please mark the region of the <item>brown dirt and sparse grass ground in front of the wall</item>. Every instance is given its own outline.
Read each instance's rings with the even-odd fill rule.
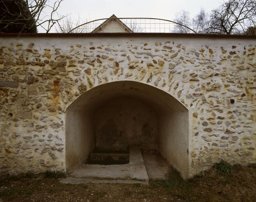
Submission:
[[[31,173],[0,178],[0,201],[256,201],[256,164],[234,166],[233,174],[214,169],[184,181],[174,171],[168,180],[141,184],[59,182],[61,175]]]

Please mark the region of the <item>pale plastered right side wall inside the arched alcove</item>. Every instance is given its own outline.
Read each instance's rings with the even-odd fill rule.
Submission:
[[[159,150],[183,178],[189,177],[188,112],[176,111],[159,119]]]

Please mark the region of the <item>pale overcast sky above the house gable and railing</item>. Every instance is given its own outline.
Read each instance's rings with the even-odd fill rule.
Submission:
[[[49,0],[53,4],[55,0]],[[176,13],[189,11],[190,16],[196,15],[200,8],[206,12],[217,8],[222,0],[64,0],[58,13],[96,20],[115,14],[117,17],[154,17],[173,20]],[[38,27],[38,32],[45,32]],[[55,28],[50,32],[55,32]]]

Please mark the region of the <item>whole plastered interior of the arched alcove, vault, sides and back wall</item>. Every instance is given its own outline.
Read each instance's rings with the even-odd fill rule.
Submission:
[[[107,114],[99,112],[101,108],[103,111],[109,108]],[[136,112],[133,113],[134,111]],[[101,123],[97,124],[98,119],[95,118],[95,114],[96,116],[99,114],[99,117],[103,119]],[[133,116],[129,117],[131,114]],[[165,91],[148,84],[118,81],[94,87],[80,95],[67,108],[66,169],[84,162],[95,146],[101,147],[95,141],[100,142],[98,138],[105,138],[104,135],[109,135],[109,142],[115,138],[115,141],[121,145],[108,144],[105,142],[108,139],[104,139],[105,141],[101,143],[103,148],[106,147],[104,143],[110,145],[106,149],[124,149],[126,146],[135,145],[154,149],[156,146],[168,162],[186,178],[189,165],[188,117],[188,110],[178,100]],[[103,132],[98,135],[97,128],[100,127],[107,127],[105,132],[109,132],[109,127],[111,127],[109,125],[112,124],[109,120],[117,123],[115,127],[118,134],[116,136],[119,137],[115,137],[113,128],[110,128],[112,134]],[[146,126],[150,127],[149,131],[145,128]],[[121,130],[122,127],[126,129]],[[150,133],[151,137],[143,131]],[[130,141],[127,142],[127,139]],[[125,147],[122,144],[126,144]]]

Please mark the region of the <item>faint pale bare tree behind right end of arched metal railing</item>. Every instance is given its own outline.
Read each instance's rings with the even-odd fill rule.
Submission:
[[[190,19],[190,14],[188,11],[182,10],[176,14],[176,19],[174,19],[179,24],[174,25],[174,32],[177,33],[190,33],[191,30],[186,27],[192,27],[192,22]],[[185,25],[186,27],[182,26]]]

